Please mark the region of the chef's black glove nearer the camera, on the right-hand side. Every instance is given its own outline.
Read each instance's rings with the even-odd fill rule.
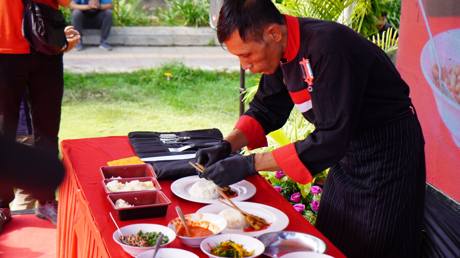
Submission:
[[[201,178],[213,180],[214,184],[224,187],[238,183],[249,175],[258,174],[254,168],[254,154],[232,156],[214,163],[204,170]]]

